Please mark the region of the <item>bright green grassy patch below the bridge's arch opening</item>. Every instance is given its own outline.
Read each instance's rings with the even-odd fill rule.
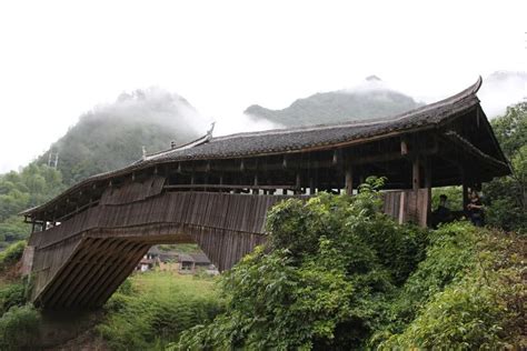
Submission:
[[[212,320],[223,303],[212,278],[176,272],[138,273],[105,307],[96,328],[113,350],[162,350],[179,333]]]

